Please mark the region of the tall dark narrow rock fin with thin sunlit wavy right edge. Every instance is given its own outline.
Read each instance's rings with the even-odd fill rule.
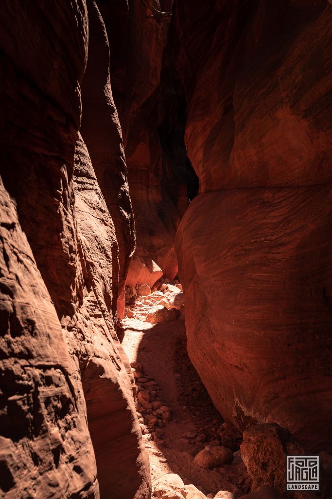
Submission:
[[[127,183],[127,168],[121,128],[114,105],[110,80],[110,48],[104,21],[97,4],[88,0],[89,58],[82,83],[81,133],[115,226],[119,267],[113,265],[113,313],[124,310],[124,281],[135,249],[134,222]],[[118,281],[119,292],[114,285]]]

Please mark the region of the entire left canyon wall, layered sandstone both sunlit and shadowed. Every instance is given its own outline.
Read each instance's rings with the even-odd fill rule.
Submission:
[[[80,0],[0,7],[5,498],[150,495],[130,367],[114,328],[119,268],[123,282],[134,248],[132,212],[107,37],[95,2],[88,6],[89,18]],[[85,110],[81,83],[101,34],[104,56],[96,57],[95,88],[87,73]],[[93,126],[111,137],[92,148],[96,173],[79,133],[82,113],[87,141]]]

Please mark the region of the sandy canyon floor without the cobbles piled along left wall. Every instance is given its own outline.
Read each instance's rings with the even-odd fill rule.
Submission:
[[[118,335],[129,361],[142,364],[143,379],[156,382],[161,389],[158,398],[171,412],[160,438],[147,430],[142,435],[152,482],[175,473],[185,485],[195,485],[206,496],[214,497],[219,491],[236,497],[247,494],[251,483],[238,451],[241,437],[222,421],[188,357],[184,320],[146,322],[141,315],[142,301],[148,312],[149,302],[154,306],[153,293],[148,298],[137,297],[131,306],[133,316],[120,322]],[[137,380],[136,384],[142,388]],[[141,428],[144,432],[146,427]],[[197,466],[194,458],[207,444],[231,448],[232,464],[211,470]]]

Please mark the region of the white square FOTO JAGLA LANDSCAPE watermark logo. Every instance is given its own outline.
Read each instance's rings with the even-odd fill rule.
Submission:
[[[319,456],[287,456],[286,485],[288,491],[319,491]]]

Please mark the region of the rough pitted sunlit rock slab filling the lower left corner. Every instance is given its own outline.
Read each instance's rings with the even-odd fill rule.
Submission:
[[[82,385],[0,183],[1,498],[99,498]]]

